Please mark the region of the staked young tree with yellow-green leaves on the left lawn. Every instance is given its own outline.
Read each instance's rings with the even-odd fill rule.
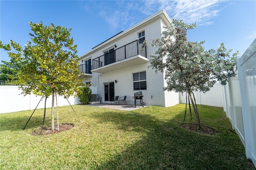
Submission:
[[[33,93],[44,96],[52,95],[51,129],[54,130],[54,95],[70,97],[76,93],[82,79],[79,79],[78,55],[70,29],[65,27],[44,26],[42,22],[29,22],[33,33],[29,33],[31,41],[20,44],[10,40],[10,44],[2,44],[0,48],[8,51],[8,55],[22,64],[18,72],[17,84],[22,94]],[[28,83],[29,85],[25,85]]]

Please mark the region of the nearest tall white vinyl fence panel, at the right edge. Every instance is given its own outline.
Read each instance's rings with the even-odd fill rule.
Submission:
[[[256,39],[237,59],[247,158],[256,165]]]

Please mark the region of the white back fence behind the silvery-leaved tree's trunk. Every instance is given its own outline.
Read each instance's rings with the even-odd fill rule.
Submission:
[[[210,91],[207,91],[206,93],[200,91],[195,91],[193,93],[197,105],[223,107],[222,85],[220,83],[216,83]],[[180,103],[186,103],[186,93],[183,93],[183,95],[180,94]]]

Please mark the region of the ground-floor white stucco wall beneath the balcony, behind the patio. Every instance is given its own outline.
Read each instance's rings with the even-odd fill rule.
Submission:
[[[128,104],[134,104],[134,99],[132,97],[137,91],[133,90],[132,73],[136,73],[139,71],[146,71],[147,89],[140,90],[144,95],[143,102],[145,102],[146,105],[165,106],[164,91],[162,90],[162,87],[164,85],[163,79],[161,76],[156,75],[154,70],[148,68],[148,63],[102,73],[98,84],[99,94],[103,99],[102,102],[104,102],[104,96],[102,96],[104,94],[104,83],[111,81],[114,82],[115,80],[117,80],[117,83],[114,83],[115,95],[118,95],[120,97],[126,95],[126,100],[128,101]]]

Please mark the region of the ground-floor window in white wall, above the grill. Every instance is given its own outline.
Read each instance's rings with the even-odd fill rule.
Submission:
[[[146,90],[146,71],[133,73],[133,90]]]

